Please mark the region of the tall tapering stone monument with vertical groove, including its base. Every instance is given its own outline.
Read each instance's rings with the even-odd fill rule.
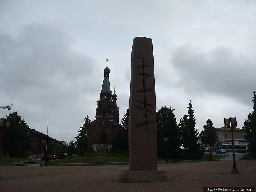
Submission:
[[[131,53],[129,103],[129,170],[121,170],[123,182],[167,181],[157,171],[156,91],[152,39],[136,37]]]

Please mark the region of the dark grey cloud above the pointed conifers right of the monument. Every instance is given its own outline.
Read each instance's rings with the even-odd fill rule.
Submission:
[[[223,95],[251,105],[248,96],[255,89],[256,65],[248,56],[225,46],[206,53],[184,45],[174,49],[171,65],[179,74],[177,87],[193,95]]]

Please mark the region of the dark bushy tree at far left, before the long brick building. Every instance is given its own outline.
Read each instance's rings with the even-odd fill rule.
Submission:
[[[12,157],[23,157],[27,134],[25,126],[27,123],[17,112],[10,113],[6,118],[7,121],[11,122],[11,128],[4,131],[3,150],[11,150]]]

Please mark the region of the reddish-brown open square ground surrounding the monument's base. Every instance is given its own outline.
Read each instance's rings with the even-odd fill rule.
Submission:
[[[203,191],[203,187],[255,187],[256,160],[158,164],[168,182],[122,183],[128,165],[0,167],[0,191]]]

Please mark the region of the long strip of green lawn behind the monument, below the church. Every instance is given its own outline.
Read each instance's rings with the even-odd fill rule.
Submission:
[[[212,155],[212,159],[219,158],[223,155]],[[129,157],[74,157],[74,158],[65,158],[57,159],[50,161],[49,163],[112,163],[112,162],[129,162]],[[168,159],[168,161],[183,161],[187,159]],[[193,159],[191,159],[193,160]],[[209,154],[204,154],[202,159],[198,160],[209,160]],[[163,158],[157,158],[157,161],[166,161]]]

